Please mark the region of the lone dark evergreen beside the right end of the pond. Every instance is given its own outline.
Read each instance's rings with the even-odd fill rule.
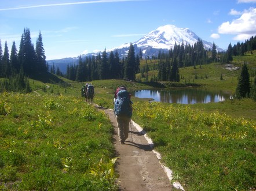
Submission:
[[[246,98],[250,95],[250,75],[247,65],[243,64],[239,81],[236,87],[236,98]]]

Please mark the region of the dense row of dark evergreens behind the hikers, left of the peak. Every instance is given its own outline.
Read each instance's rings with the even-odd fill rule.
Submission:
[[[79,57],[78,66],[67,66],[65,77],[69,80],[76,81],[106,80],[112,78],[129,78],[130,80],[135,80],[135,74],[137,72],[140,72],[140,59],[138,55],[135,57],[134,47],[131,44],[128,57],[123,58],[122,61],[120,61],[117,51],[115,53],[111,51],[107,54],[107,51],[104,50],[102,55],[99,53],[93,57]],[[51,73],[53,73],[52,68]]]

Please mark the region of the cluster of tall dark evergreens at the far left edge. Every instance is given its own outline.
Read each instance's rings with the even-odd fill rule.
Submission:
[[[9,55],[8,46],[5,42],[5,51],[2,55],[0,42],[0,77],[7,78],[1,82],[0,91],[30,92],[31,88],[27,78],[41,78],[45,76],[46,72],[47,65],[41,32],[34,49],[30,29],[24,29],[18,54],[16,44],[13,42]]]

